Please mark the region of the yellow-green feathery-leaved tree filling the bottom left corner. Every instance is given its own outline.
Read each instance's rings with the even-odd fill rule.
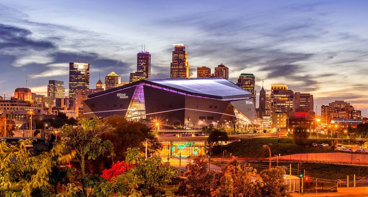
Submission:
[[[18,144],[0,143],[0,195],[51,196],[50,174],[57,164],[67,163],[73,154],[63,154],[64,144],[57,144],[50,152],[32,156],[26,147],[32,140]]]

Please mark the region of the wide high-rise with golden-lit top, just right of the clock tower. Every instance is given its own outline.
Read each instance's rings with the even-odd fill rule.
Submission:
[[[295,111],[294,92],[287,85],[271,85],[271,105],[276,113]]]

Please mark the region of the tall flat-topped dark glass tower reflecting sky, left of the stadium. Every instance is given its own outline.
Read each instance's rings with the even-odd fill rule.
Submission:
[[[69,63],[69,98],[75,100],[78,89],[89,89],[89,63]]]

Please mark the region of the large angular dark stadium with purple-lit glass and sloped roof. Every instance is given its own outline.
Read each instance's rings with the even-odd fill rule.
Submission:
[[[167,125],[241,126],[256,119],[251,95],[224,78],[147,79],[89,95],[83,114],[123,115]]]

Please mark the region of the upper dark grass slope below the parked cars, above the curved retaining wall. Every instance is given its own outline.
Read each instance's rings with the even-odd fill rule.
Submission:
[[[345,140],[346,141],[346,140]],[[339,141],[340,142],[340,141]],[[331,145],[331,139],[308,139],[308,144],[312,143],[328,143]],[[224,157],[229,158],[230,153],[239,158],[267,158],[269,157],[268,148],[263,145],[268,145],[273,155],[290,155],[307,153],[307,146],[301,146],[293,143],[291,138],[244,138],[240,142],[233,142],[222,147]],[[312,147],[308,146],[308,153],[341,153],[331,147]],[[348,152],[350,153],[350,152]],[[364,153],[354,153],[364,154]],[[222,156],[221,148],[213,150],[212,158],[220,158]]]

